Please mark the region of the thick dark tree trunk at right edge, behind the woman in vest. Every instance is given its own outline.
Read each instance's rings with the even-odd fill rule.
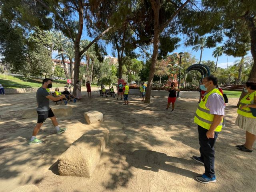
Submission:
[[[253,66],[252,70],[249,74],[248,81],[256,81],[256,26],[254,24],[254,18],[246,17],[246,24],[247,28],[250,32],[250,38],[251,38],[251,54],[253,58]],[[237,103],[237,107],[240,105],[240,100],[246,95],[244,90],[242,91],[242,94],[239,98],[239,101]]]

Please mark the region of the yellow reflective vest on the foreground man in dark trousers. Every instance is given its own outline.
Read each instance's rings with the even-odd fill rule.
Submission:
[[[206,96],[204,96],[204,98],[201,100],[200,104],[198,105],[198,108],[196,110],[196,115],[194,117],[194,122],[196,124],[198,124],[199,126],[209,130],[210,129],[210,126],[213,122],[213,119],[214,119],[214,115],[213,114],[210,114],[210,109],[208,109],[205,105],[206,105],[206,102],[208,100],[208,97],[213,94],[213,93],[217,93],[219,94],[220,96],[222,96],[221,92],[216,88],[216,89],[213,89],[211,90],[208,94],[206,94]],[[223,96],[222,96],[223,98]],[[223,98],[223,101],[224,101],[224,98]],[[222,122],[223,122],[223,119],[222,121],[220,122],[220,124],[217,126],[216,128],[216,132],[220,132],[221,129],[222,129]]]

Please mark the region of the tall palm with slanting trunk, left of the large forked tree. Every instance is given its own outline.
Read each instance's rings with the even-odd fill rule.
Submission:
[[[65,72],[66,78],[68,79],[68,71],[66,68],[65,58],[63,54],[64,44],[66,44],[66,41],[67,41],[67,38],[64,36],[62,32],[59,32],[56,30],[52,31],[53,50],[57,50],[58,54],[61,56],[64,72]]]

